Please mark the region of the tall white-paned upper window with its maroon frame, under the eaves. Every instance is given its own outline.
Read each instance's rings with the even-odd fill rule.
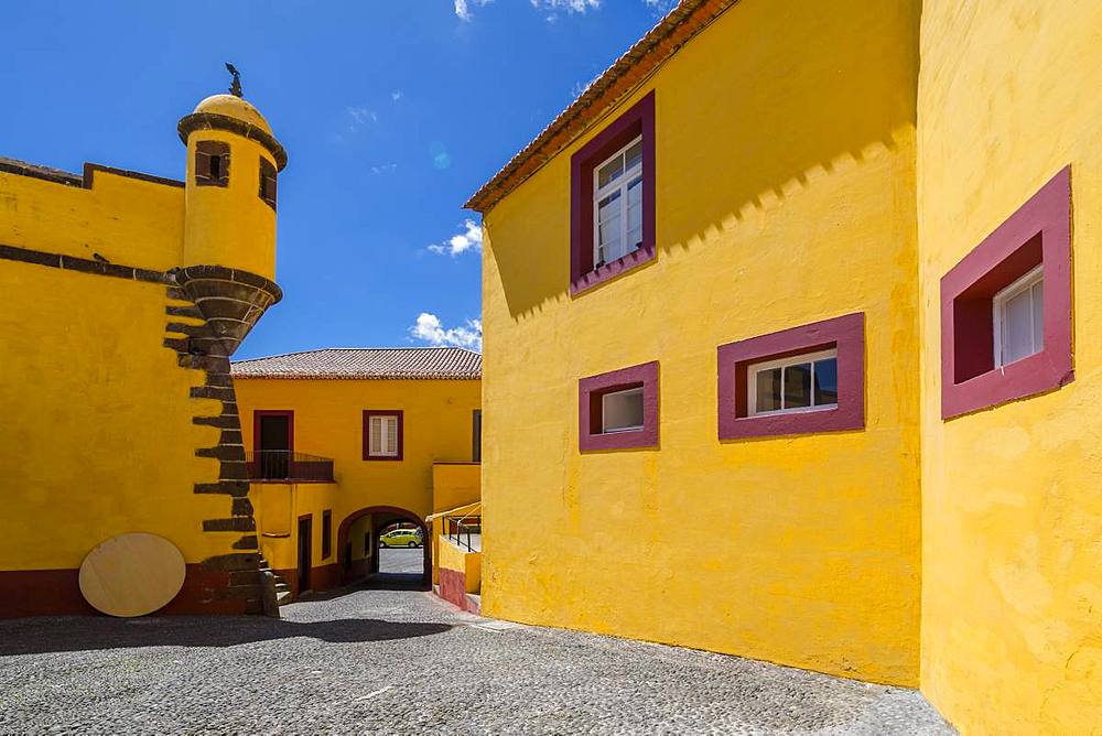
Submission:
[[[579,294],[655,257],[655,94],[570,163],[571,294]]]

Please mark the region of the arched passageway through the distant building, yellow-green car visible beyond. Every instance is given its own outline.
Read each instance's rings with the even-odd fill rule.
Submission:
[[[349,513],[337,530],[337,550],[341,552],[341,581],[350,583],[380,574],[379,560],[385,550],[379,548],[379,534],[397,522],[411,522],[421,530],[422,567],[420,585],[429,587],[432,581],[432,544],[430,529],[424,519],[396,506],[369,506]],[[402,575],[385,573],[389,577]],[[414,573],[415,575],[415,573]],[[406,577],[410,577],[407,575]],[[399,581],[400,582],[400,581]]]

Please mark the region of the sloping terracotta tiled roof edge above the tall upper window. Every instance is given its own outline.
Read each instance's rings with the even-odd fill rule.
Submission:
[[[464,207],[480,213],[489,210],[570,145],[590,123],[635,91],[666,59],[735,2],[737,0],[681,0],[647,35],[594,79],[531,143],[475,192]]]

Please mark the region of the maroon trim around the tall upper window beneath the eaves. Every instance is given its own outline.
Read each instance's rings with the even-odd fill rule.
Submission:
[[[642,245],[611,263],[593,268],[593,170],[642,136]],[[570,159],[570,294],[655,259],[655,93],[633,105]]]

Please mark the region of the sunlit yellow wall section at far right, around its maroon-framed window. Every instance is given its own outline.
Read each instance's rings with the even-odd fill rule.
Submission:
[[[1102,6],[927,0],[922,691],[965,734],[1102,734]],[[939,280],[1071,164],[1074,369],[943,422]]]

